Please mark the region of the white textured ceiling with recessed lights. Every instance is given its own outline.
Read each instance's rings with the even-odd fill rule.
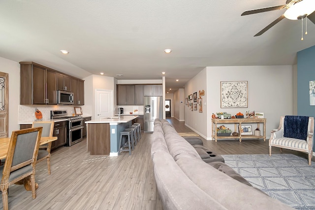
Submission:
[[[253,37],[285,9],[241,16],[281,4],[285,0],[0,0],[0,57],[79,78],[104,72],[161,79],[166,71],[166,88],[176,89],[207,66],[296,64],[296,52],[315,45],[311,21],[301,41],[301,22],[288,19]]]

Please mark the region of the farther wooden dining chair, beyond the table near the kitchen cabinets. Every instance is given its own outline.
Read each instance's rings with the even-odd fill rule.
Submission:
[[[52,137],[53,130],[54,130],[54,121],[50,122],[33,122],[32,128],[36,127],[43,127],[43,132],[41,134],[42,137]],[[36,164],[42,160],[47,159],[47,167],[48,167],[48,175],[50,175],[50,150],[51,150],[51,143],[46,143],[39,146],[38,156]]]

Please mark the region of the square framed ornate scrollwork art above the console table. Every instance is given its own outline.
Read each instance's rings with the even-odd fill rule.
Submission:
[[[221,108],[247,108],[247,81],[221,82]]]

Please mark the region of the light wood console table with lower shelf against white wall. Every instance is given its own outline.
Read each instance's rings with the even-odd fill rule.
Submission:
[[[217,136],[217,124],[226,124],[226,123],[234,123],[234,131],[238,132],[238,136]],[[242,123],[257,123],[257,128],[259,128],[259,124],[263,123],[263,136],[255,136],[255,135],[241,135],[241,126]],[[239,130],[237,131],[237,125]],[[255,128],[252,128],[252,133],[254,133]],[[264,139],[266,141],[266,118],[233,118],[233,119],[212,119],[212,139],[239,139],[240,142],[242,139]]]

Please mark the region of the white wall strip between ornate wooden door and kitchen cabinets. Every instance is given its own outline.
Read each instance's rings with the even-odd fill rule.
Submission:
[[[0,57],[0,71],[9,74],[9,133],[19,130],[20,64]]]

